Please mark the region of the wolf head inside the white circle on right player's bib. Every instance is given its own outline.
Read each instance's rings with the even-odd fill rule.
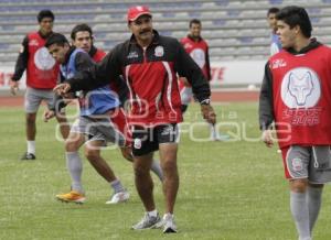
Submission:
[[[313,90],[312,77],[307,72],[301,78],[296,76],[293,73],[289,76],[288,91],[297,101],[298,106],[305,106],[307,97]]]

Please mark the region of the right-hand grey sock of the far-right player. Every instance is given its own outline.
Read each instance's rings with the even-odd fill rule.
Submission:
[[[311,232],[312,232],[314,222],[318,219],[319,211],[321,208],[322,192],[323,192],[322,187],[308,187],[308,190],[307,190],[307,203],[308,203],[308,209],[309,209],[309,226],[310,226]]]

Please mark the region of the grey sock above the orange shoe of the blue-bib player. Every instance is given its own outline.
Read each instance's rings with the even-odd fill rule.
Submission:
[[[66,167],[72,177],[72,189],[84,193],[82,186],[83,163],[78,152],[66,152]]]

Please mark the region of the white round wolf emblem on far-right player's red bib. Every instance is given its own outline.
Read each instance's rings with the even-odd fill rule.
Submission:
[[[289,70],[281,81],[281,99],[289,108],[314,107],[321,96],[319,76],[308,67]]]

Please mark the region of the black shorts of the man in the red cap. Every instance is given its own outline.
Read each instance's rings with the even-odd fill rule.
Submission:
[[[141,156],[159,150],[160,143],[178,141],[177,123],[157,126],[154,128],[135,127],[132,131],[132,154]]]

